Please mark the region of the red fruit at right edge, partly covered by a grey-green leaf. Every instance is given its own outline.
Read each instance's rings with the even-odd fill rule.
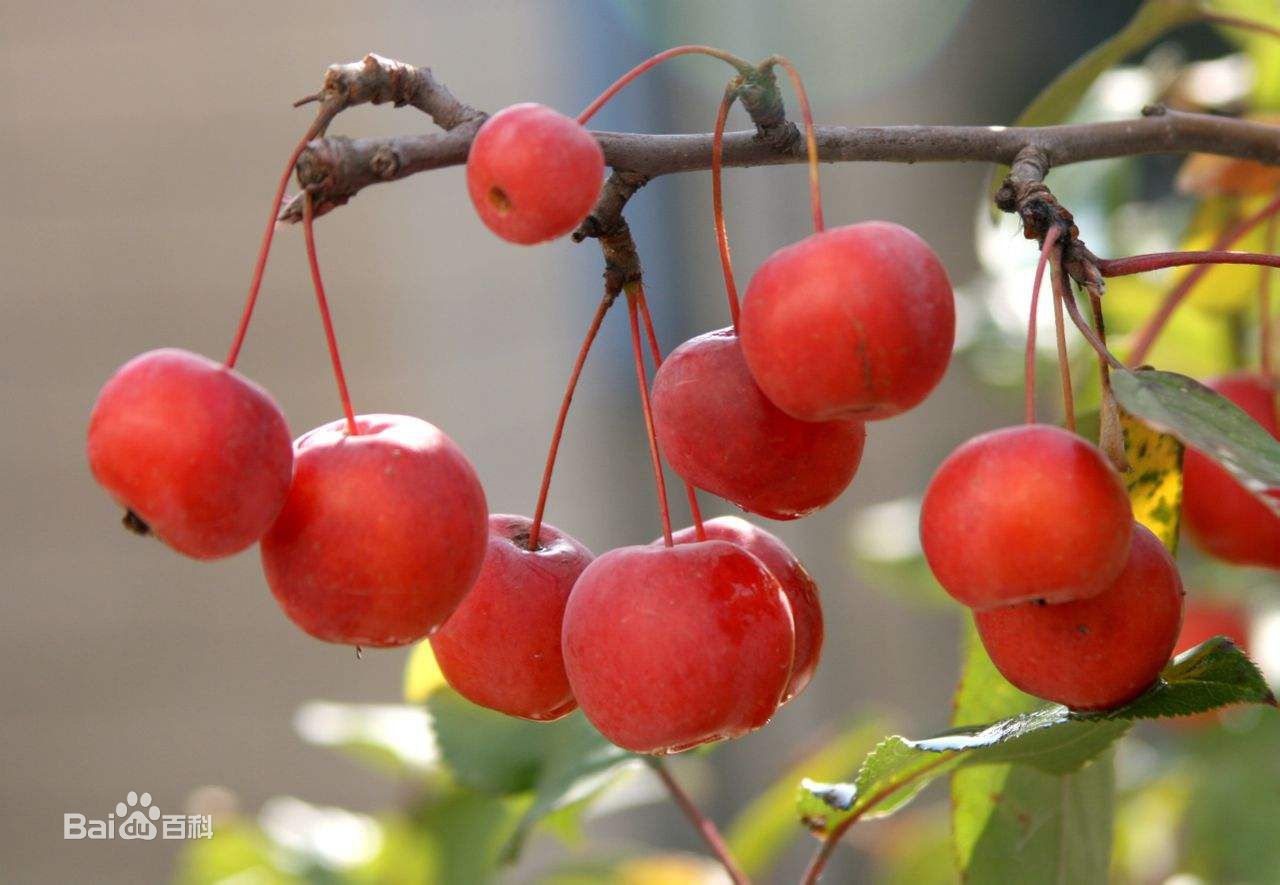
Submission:
[[[1280,438],[1276,388],[1263,375],[1238,373],[1207,386]],[[1267,494],[1280,502],[1280,491]],[[1193,448],[1183,456],[1183,525],[1197,547],[1220,560],[1280,569],[1280,516]]]

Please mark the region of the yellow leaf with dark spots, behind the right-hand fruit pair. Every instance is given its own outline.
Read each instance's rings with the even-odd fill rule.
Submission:
[[[1176,553],[1183,508],[1183,444],[1123,410],[1120,426],[1129,459],[1124,484],[1133,517],[1151,529],[1170,553]]]

